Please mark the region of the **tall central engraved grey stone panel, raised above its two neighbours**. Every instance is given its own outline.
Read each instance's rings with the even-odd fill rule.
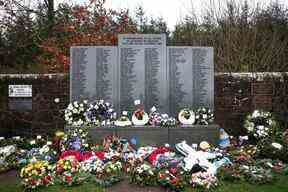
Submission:
[[[166,36],[163,34],[119,35],[120,108],[133,108],[140,99],[146,110],[157,106],[168,111]]]

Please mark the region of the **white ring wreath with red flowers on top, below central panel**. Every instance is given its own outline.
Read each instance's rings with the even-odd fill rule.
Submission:
[[[140,100],[135,100],[134,104],[137,109],[132,114],[132,123],[137,126],[146,125],[149,121],[149,116],[144,111],[144,106],[140,104]]]

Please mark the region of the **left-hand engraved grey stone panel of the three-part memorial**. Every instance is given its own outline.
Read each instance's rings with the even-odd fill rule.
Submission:
[[[105,99],[117,106],[117,47],[71,48],[71,101]]]

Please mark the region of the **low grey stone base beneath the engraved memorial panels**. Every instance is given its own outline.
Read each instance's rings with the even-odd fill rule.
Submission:
[[[188,144],[208,141],[216,143],[219,139],[218,125],[193,125],[189,127],[91,127],[89,138],[94,143],[101,143],[108,135],[116,135],[137,142],[137,146],[176,144],[186,140]]]

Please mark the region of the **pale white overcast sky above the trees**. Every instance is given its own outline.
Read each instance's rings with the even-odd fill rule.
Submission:
[[[57,2],[71,2],[71,0],[55,0]],[[113,9],[129,9],[134,11],[136,7],[142,6],[148,16],[163,17],[167,22],[168,27],[172,29],[175,24],[183,20],[186,15],[191,13],[201,14],[205,5],[210,1],[224,2],[224,0],[106,0],[105,6]],[[235,0],[236,2],[243,2],[244,0]],[[255,6],[260,3],[262,6],[269,4],[275,0],[248,0],[248,2]],[[73,0],[77,3],[87,3],[88,0]],[[288,0],[278,0],[279,3],[288,6]],[[218,5],[218,3],[216,3]],[[193,11],[194,10],[194,11]]]

